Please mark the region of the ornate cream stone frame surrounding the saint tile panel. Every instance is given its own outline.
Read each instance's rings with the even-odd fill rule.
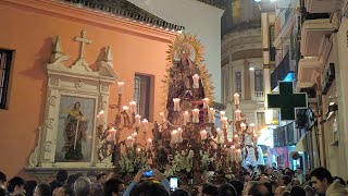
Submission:
[[[85,30],[83,36],[85,36]],[[75,38],[76,40],[76,38]],[[90,41],[91,42],[91,41]],[[84,45],[84,42],[83,42]],[[61,40],[58,36],[53,44],[51,62],[47,64],[48,85],[45,117],[42,125],[38,128],[38,144],[29,157],[29,167],[26,170],[35,174],[49,174],[59,168],[71,171],[105,170],[112,168],[111,158],[98,160],[97,149],[100,145],[96,132],[96,120],[92,122],[91,132],[91,158],[89,162],[57,162],[55,147],[58,134],[58,117],[61,97],[64,95],[76,96],[95,100],[96,117],[100,110],[104,111],[108,119],[109,88],[117,78],[113,71],[113,58],[111,48],[105,48],[104,58],[98,62],[98,71],[92,71],[84,59],[84,47],[79,59],[67,68],[63,64],[70,57],[62,53]]]

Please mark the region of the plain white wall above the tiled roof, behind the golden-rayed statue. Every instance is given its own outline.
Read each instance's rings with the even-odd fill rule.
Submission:
[[[128,0],[137,7],[197,35],[212,74],[215,101],[221,102],[221,16],[223,10],[197,0]]]

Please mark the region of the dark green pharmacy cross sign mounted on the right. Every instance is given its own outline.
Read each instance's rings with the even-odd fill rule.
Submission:
[[[295,120],[296,108],[308,108],[307,94],[294,94],[293,82],[278,82],[279,94],[268,94],[269,108],[281,109],[281,120]]]

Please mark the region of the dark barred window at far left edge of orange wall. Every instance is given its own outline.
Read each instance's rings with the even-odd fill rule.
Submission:
[[[12,52],[11,50],[0,49],[0,109],[8,108]]]

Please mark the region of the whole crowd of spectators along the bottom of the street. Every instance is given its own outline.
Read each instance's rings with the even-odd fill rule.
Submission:
[[[20,176],[8,181],[0,172],[0,196],[348,196],[347,182],[332,176],[325,168],[302,173],[300,168],[293,171],[288,168],[248,167],[243,177],[226,180],[223,184],[207,179],[194,193],[187,184],[171,188],[171,183],[160,171],[151,171],[153,175],[145,176],[144,170],[139,170],[130,184],[115,177],[113,172],[89,171],[84,176],[59,170],[57,179],[50,183],[25,181]]]

